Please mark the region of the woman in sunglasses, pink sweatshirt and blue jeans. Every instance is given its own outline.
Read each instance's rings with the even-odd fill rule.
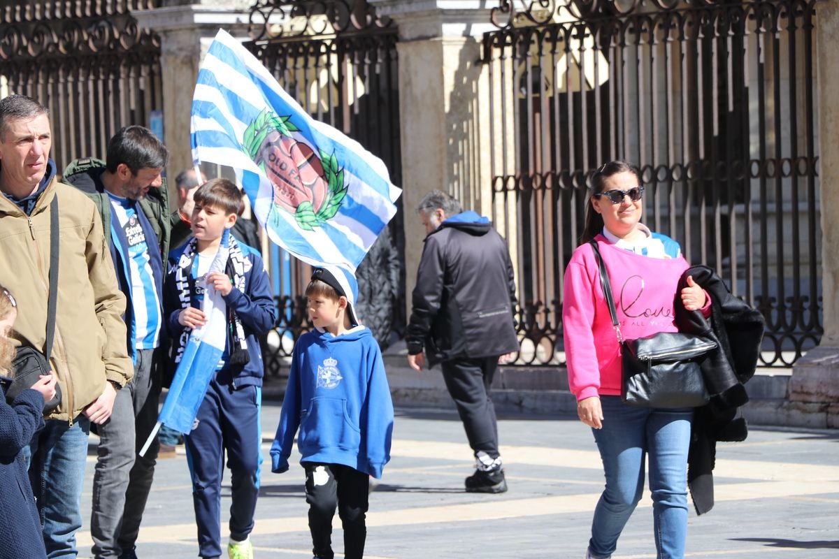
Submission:
[[[679,244],[640,223],[644,187],[638,168],[606,163],[591,179],[586,226],[565,270],[562,321],[568,381],[581,422],[592,428],[606,474],[594,511],[586,557],[611,557],[644,490],[649,455],[654,537],[659,559],[685,555],[687,453],[692,408],[650,409],[621,402],[621,357],[594,239],[612,283],[625,339],[675,332],[676,283],[688,263]],[[679,294],[685,308],[706,308],[706,293],[689,280]]]

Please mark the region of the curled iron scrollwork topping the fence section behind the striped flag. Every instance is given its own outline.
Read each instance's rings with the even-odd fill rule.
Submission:
[[[328,37],[391,28],[367,0],[258,0],[251,7],[253,41]]]

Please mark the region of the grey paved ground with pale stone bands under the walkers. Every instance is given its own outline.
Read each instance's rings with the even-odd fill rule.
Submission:
[[[279,404],[266,402],[267,460],[278,420]],[[393,456],[370,499],[367,558],[583,557],[591,511],[602,490],[591,431],[568,417],[519,416],[504,417],[499,432],[510,490],[466,494],[463,479],[472,472],[472,458],[454,411],[398,410]],[[95,444],[91,436],[86,521]],[[748,441],[718,447],[715,473],[717,505],[702,516],[691,510],[687,556],[839,557],[839,432],[753,428]],[[226,489],[222,534],[227,533]],[[263,473],[252,535],[255,555],[310,559],[306,510],[302,468]],[[338,557],[341,537],[336,525]],[[79,534],[79,543],[81,556],[90,556],[88,532]],[[138,556],[194,557],[196,552],[189,474],[180,454],[159,461]],[[615,557],[655,557],[649,496],[630,520]]]

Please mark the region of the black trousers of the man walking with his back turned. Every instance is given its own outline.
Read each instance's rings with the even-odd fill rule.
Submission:
[[[498,356],[456,359],[442,365],[443,379],[466,429],[469,446],[498,458],[498,422],[489,397],[492,377],[498,370]]]

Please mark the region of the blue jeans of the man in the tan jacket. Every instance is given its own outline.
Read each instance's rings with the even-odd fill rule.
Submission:
[[[76,417],[72,425],[50,420],[29,444],[29,481],[50,559],[77,555],[76,531],[81,528],[81,489],[90,430],[91,422],[84,416]]]

